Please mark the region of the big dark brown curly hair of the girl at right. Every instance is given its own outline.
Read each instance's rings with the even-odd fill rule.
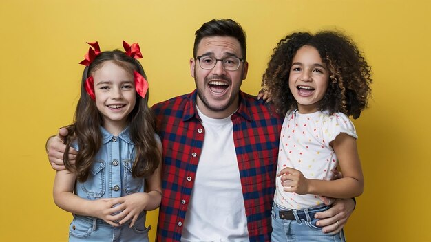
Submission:
[[[293,33],[281,39],[275,47],[262,78],[262,87],[271,94],[277,112],[284,115],[297,109],[288,78],[292,60],[304,45],[317,49],[329,72],[328,89],[319,102],[319,110],[359,118],[368,106],[371,94],[371,67],[348,36],[330,31]]]

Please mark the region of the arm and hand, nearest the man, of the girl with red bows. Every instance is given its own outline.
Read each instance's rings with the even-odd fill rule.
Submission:
[[[158,149],[162,153],[162,145],[158,143]],[[123,210],[120,214],[116,215],[114,219],[121,221],[120,224],[125,223],[129,219],[132,219],[130,227],[132,227],[135,221],[138,219],[139,214],[143,211],[150,211],[158,208],[162,201],[162,164],[159,161],[158,168],[154,173],[145,179],[145,190],[146,192],[137,192],[125,197],[119,197],[115,199],[116,203],[121,203],[116,208]]]

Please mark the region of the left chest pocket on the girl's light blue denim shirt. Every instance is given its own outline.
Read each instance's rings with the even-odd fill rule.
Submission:
[[[105,194],[105,162],[103,160],[99,159],[92,164],[87,181],[82,184],[82,190],[90,200],[101,198]]]

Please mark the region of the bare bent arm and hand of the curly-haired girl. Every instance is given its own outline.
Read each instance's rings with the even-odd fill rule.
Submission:
[[[364,176],[355,138],[346,133],[340,133],[330,144],[337,154],[343,177],[333,181],[306,179],[299,170],[284,168],[278,174],[282,175],[284,191],[334,198],[350,198],[362,194]]]

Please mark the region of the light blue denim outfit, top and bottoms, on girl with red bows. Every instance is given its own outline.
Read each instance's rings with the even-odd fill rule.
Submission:
[[[130,140],[129,128],[114,136],[103,127],[102,146],[98,151],[87,181],[76,181],[75,194],[88,200],[124,197],[144,191],[144,179],[132,177],[134,144]],[[76,144],[73,145],[74,148]],[[130,221],[113,227],[101,219],[74,214],[70,223],[69,241],[148,241],[145,227],[145,212],[139,215],[134,227]]]

